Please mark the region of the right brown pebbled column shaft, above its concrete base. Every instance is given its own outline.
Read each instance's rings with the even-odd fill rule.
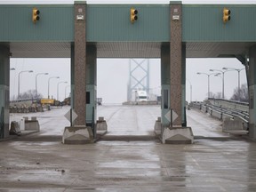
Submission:
[[[171,42],[170,42],[170,103],[171,108],[178,115],[172,125],[181,126],[181,51],[182,51],[182,22],[181,2],[171,2]]]

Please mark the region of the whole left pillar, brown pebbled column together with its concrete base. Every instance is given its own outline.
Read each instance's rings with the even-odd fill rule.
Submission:
[[[62,142],[64,144],[85,144],[93,142],[92,127],[86,127],[86,103],[91,99],[90,96],[86,98],[86,82],[90,82],[88,74],[91,74],[91,60],[90,57],[86,60],[86,3],[75,2],[74,7],[75,42],[74,46],[71,45],[71,106],[77,118],[74,124],[65,127]]]

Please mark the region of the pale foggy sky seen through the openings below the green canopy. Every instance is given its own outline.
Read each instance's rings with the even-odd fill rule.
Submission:
[[[149,60],[150,88],[154,93],[160,95],[160,59]],[[186,68],[186,100],[190,101],[190,84],[192,84],[192,100],[204,100],[207,97],[207,76],[197,75],[197,72],[212,73],[209,69],[244,68],[236,59],[187,59]],[[59,97],[63,100],[70,92],[70,60],[69,59],[11,59],[10,71],[10,95],[18,95],[18,76],[22,70],[33,70],[34,73],[22,73],[20,75],[20,92],[36,89],[36,74],[49,73],[48,76],[37,76],[37,92],[44,97],[48,94],[48,79],[51,76],[60,76],[60,79],[50,80],[50,95],[57,97],[57,86],[59,82]],[[236,71],[225,73],[225,96],[229,99],[238,84]],[[98,59],[97,60],[97,95],[103,98],[105,103],[122,103],[127,99],[127,84],[129,81],[129,59]],[[246,83],[245,71],[240,72],[240,84]],[[211,92],[222,91],[222,79],[220,76],[210,77]]]

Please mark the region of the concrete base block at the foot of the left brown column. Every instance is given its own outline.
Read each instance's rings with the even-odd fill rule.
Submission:
[[[63,136],[63,144],[87,144],[93,142],[92,127],[77,125],[65,127]]]

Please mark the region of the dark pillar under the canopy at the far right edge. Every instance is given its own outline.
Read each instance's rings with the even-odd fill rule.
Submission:
[[[249,135],[256,140],[256,46],[249,50]]]

